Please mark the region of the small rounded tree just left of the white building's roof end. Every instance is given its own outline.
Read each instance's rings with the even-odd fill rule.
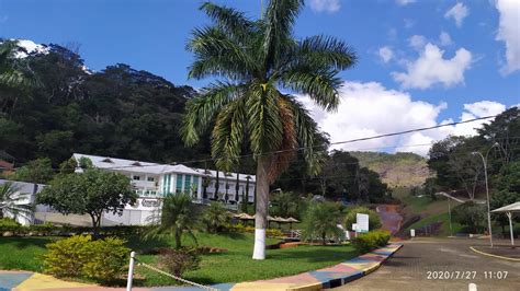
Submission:
[[[35,184],[46,184],[53,176],[54,170],[48,158],[31,161],[14,172],[14,179]]]

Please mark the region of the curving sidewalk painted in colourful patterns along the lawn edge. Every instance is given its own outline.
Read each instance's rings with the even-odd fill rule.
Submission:
[[[314,291],[335,288],[363,277],[377,269],[383,261],[397,252],[403,244],[389,244],[371,253],[346,260],[332,267],[303,272],[294,276],[242,283],[222,283],[213,288],[223,291],[269,290],[269,291]],[[121,291],[123,288],[104,288],[93,284],[69,282],[37,272],[0,271],[0,291]],[[190,287],[133,288],[136,291],[191,291],[201,290]]]

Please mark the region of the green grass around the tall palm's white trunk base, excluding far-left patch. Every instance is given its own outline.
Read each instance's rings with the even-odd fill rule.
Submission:
[[[297,246],[268,249],[265,260],[252,260],[252,234],[199,233],[196,237],[200,245],[228,249],[225,253],[203,255],[200,269],[185,273],[186,279],[201,283],[241,282],[295,275],[331,266],[357,255],[351,246]],[[190,241],[186,242],[190,243]],[[276,242],[270,238],[267,243]],[[144,263],[154,264],[158,256],[138,255],[137,258]],[[137,282],[140,286],[176,283],[174,280],[144,267],[137,267],[137,273],[146,277],[145,281]]]

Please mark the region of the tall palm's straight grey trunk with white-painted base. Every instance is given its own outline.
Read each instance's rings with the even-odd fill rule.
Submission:
[[[253,259],[265,259],[265,229],[269,208],[269,156],[261,155],[257,164],[257,214],[255,217]]]

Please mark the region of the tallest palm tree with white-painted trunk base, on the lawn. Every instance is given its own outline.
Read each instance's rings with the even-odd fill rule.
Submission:
[[[303,0],[271,0],[260,20],[213,3],[201,7],[213,25],[195,28],[188,43],[195,60],[190,78],[221,77],[186,105],[181,129],[186,146],[212,130],[212,156],[229,172],[248,144],[257,162],[253,259],[265,257],[269,186],[289,166],[295,149],[310,172],[319,170],[317,126],[294,94],[308,95],[327,110],[339,104],[340,70],[355,55],[330,36],[295,39],[293,26]]]

